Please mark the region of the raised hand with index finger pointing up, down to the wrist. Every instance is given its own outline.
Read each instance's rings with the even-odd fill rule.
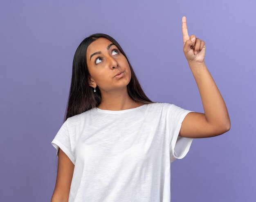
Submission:
[[[182,17],[182,35],[183,35],[183,51],[189,64],[203,63],[205,55],[205,43],[195,35],[189,37],[186,27],[186,16]],[[194,41],[191,39],[195,38]]]

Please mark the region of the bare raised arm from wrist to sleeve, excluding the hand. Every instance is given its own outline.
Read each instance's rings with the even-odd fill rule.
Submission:
[[[192,63],[189,67],[200,92],[204,113],[188,113],[179,135],[209,138],[229,131],[231,122],[226,104],[205,63]]]

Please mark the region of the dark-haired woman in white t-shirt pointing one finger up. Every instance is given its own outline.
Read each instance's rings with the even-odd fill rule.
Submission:
[[[204,64],[204,42],[192,41],[182,20],[205,114],[152,102],[115,39],[85,38],[74,55],[65,120],[51,142],[58,156],[52,202],[169,202],[170,163],[184,158],[193,138],[229,130],[225,102]]]

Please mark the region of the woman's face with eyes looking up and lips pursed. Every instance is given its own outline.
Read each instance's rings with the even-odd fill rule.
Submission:
[[[98,86],[101,92],[124,88],[130,82],[131,71],[126,57],[106,38],[98,38],[88,46],[86,62],[91,75],[90,86]],[[115,77],[119,72],[124,73]]]

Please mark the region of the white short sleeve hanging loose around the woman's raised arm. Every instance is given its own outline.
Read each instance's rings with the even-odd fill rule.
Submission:
[[[167,115],[166,115],[166,125],[167,133],[170,135],[170,162],[176,159],[182,159],[188,153],[193,138],[185,138],[178,136],[180,133],[181,125],[190,111],[187,109],[182,109],[175,104],[169,104]]]

